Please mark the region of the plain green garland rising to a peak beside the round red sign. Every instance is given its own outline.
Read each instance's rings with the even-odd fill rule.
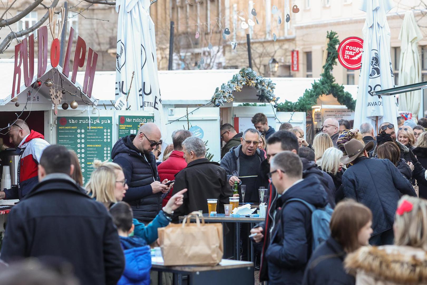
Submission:
[[[356,100],[350,93],[344,91],[344,86],[335,82],[332,75],[333,66],[336,65],[338,52],[336,45],[339,44],[336,32],[330,31],[327,36],[328,42],[328,57],[323,66],[323,73],[320,75],[319,81],[313,82],[311,89],[306,89],[304,95],[299,97],[297,102],[290,102],[278,104],[277,111],[281,112],[311,112],[312,106],[317,105],[317,98],[322,94],[332,94],[341,105],[347,106],[348,109],[353,110],[356,107]]]

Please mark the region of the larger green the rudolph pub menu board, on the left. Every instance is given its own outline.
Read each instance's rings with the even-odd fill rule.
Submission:
[[[83,184],[89,181],[94,159],[111,158],[113,141],[111,117],[58,117],[56,142],[76,152],[82,168]]]

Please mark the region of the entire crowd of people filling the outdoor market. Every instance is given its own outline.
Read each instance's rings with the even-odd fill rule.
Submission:
[[[261,281],[427,282],[427,201],[417,197],[427,197],[427,119],[383,123],[375,136],[369,123],[354,128],[328,118],[311,145],[290,123],[276,132],[262,113],[252,123],[240,133],[221,126],[219,163],[185,129],[173,132],[158,162],[161,131],[146,123],[114,144],[112,162],[95,161],[83,185],[75,153],[49,146],[17,120],[10,142],[26,153],[20,166],[27,156],[32,164],[21,169],[18,188],[0,192],[23,198],[8,219],[0,259],[54,257],[70,264],[81,284],[149,284],[148,245],[157,229],[193,211],[208,213],[207,199],[217,199],[217,213],[230,197],[242,203],[240,187],[232,191],[237,182],[246,185],[245,202],[259,203],[260,187],[268,192],[265,221],[240,229],[242,247],[252,242],[258,252]]]

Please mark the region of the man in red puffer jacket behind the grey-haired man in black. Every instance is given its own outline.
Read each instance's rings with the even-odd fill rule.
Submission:
[[[175,180],[175,174],[187,167],[187,162],[184,159],[184,153],[182,152],[182,142],[186,138],[191,137],[193,134],[186,129],[178,130],[172,138],[173,152],[169,158],[162,162],[158,167],[158,173],[160,180],[168,179],[170,181]],[[173,187],[169,193],[163,199],[163,207],[166,206],[167,201],[172,196]]]

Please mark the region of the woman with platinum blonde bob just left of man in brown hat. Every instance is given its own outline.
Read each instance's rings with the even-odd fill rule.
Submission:
[[[342,185],[341,177],[345,171],[343,164],[340,161],[342,156],[343,154],[341,150],[337,149],[336,147],[330,147],[325,150],[325,153],[323,153],[322,157],[321,170],[325,171],[329,174],[330,177],[332,177],[336,191],[338,191],[339,186]]]

